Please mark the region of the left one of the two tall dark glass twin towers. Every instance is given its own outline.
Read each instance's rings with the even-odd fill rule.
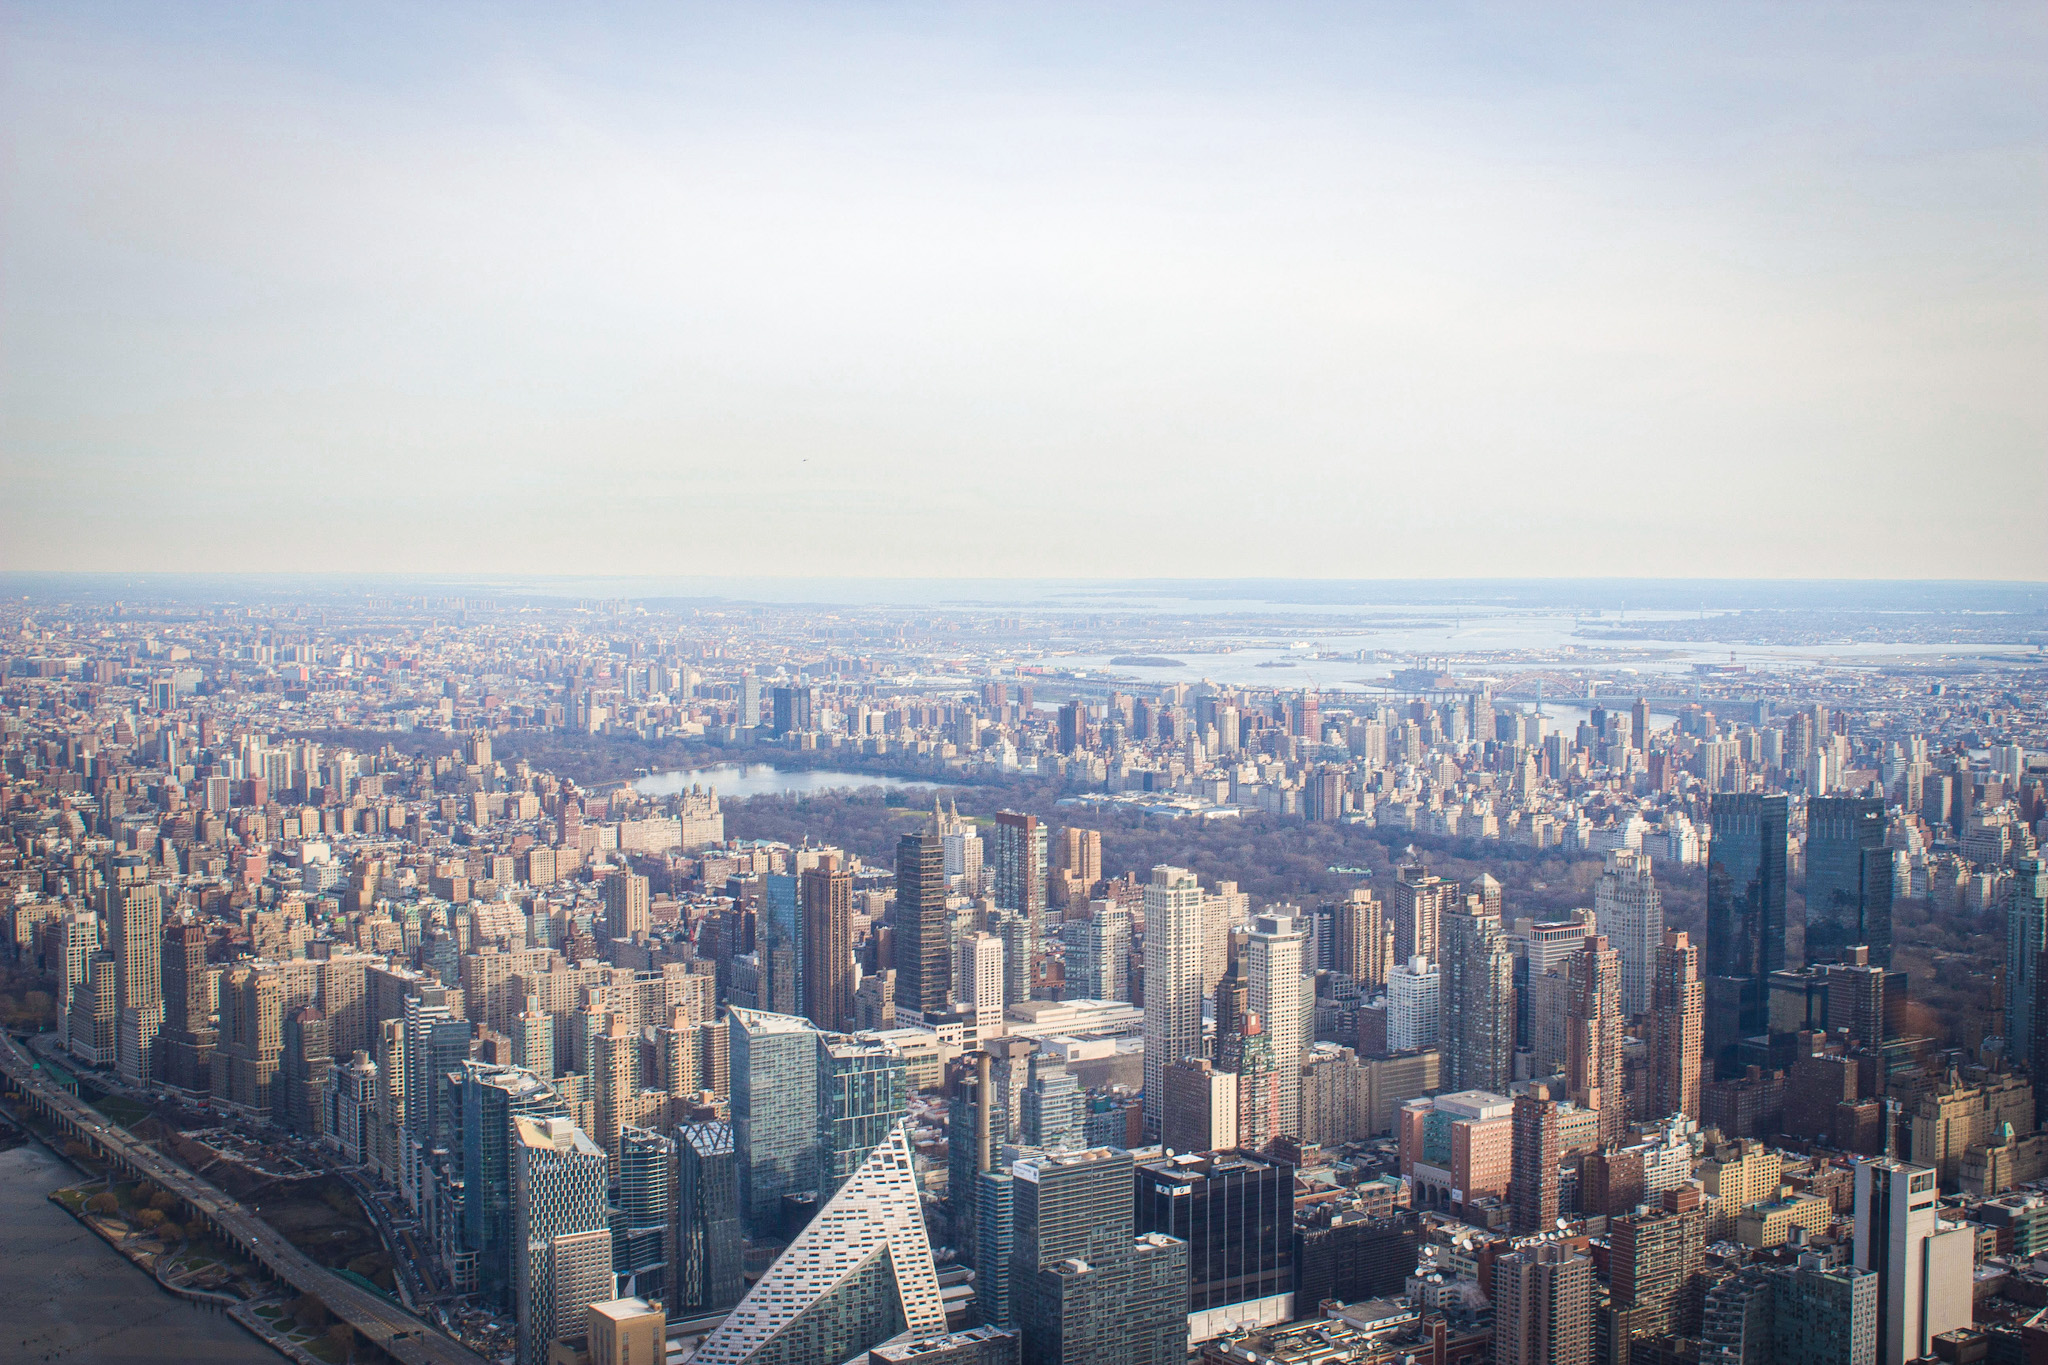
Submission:
[[[1714,796],[1706,853],[1706,1050],[1733,1074],[1743,1038],[1769,1029],[1769,974],[1786,964],[1788,796]]]

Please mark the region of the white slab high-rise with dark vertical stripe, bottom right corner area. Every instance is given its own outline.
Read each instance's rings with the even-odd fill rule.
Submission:
[[[1933,1166],[1890,1156],[1855,1162],[1855,1269],[1878,1273],[1878,1365],[1933,1355],[1970,1326],[1976,1238],[1939,1216]]]

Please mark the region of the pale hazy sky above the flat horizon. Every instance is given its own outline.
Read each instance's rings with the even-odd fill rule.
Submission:
[[[2048,579],[2032,0],[0,18],[6,569]]]

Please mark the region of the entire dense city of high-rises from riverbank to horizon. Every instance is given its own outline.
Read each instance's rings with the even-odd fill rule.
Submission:
[[[2040,1359],[2048,620],[1944,591],[23,577],[0,1113],[326,1365]]]

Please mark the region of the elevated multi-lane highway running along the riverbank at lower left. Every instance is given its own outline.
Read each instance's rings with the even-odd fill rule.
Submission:
[[[111,1152],[129,1171],[162,1185],[233,1238],[252,1259],[301,1293],[311,1293],[328,1310],[377,1342],[406,1365],[485,1365],[483,1357],[414,1318],[381,1293],[371,1293],[309,1261],[270,1224],[240,1201],[160,1154],[98,1109],[49,1081],[14,1038],[0,1033],[0,1070],[33,1095],[39,1105]]]

